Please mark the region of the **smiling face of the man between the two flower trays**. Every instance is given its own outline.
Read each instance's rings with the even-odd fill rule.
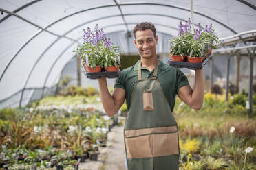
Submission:
[[[142,58],[156,57],[156,44],[158,43],[158,36],[154,37],[151,29],[145,31],[137,31],[135,33],[136,39],[134,44]]]

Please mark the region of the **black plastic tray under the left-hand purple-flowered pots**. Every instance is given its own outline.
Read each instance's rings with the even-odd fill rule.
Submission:
[[[120,69],[118,69],[118,71],[114,71],[114,72],[108,72],[108,71],[104,71],[104,69],[102,69],[101,72],[98,72],[98,73],[88,73],[87,71],[85,71],[85,68],[83,67],[82,63],[81,63],[81,67],[83,69],[83,73],[89,79],[99,79],[100,77],[107,77],[107,78],[111,79],[111,78],[116,78],[116,77],[118,77],[118,75],[120,75]]]

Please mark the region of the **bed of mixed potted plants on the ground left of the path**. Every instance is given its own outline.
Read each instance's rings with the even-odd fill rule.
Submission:
[[[94,94],[97,98],[95,91]],[[28,107],[0,110],[0,151],[12,150],[11,154],[0,156],[0,168],[41,162],[65,167],[71,160],[97,160],[98,148],[105,147],[113,119],[87,104],[91,102],[87,95],[68,96],[67,101],[61,97],[61,105],[59,98],[50,97],[35,101]],[[75,101],[86,98],[89,100],[85,104]],[[56,152],[48,151],[50,146]],[[70,156],[69,162],[58,158],[60,152]]]

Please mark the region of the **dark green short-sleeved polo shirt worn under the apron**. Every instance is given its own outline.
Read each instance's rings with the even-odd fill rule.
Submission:
[[[116,84],[114,86],[114,88],[119,87],[125,90],[125,99],[128,110],[131,106],[131,93],[134,89],[134,84],[138,81],[139,62],[140,60],[138,60],[134,66],[122,70],[118,78],[116,78]],[[153,76],[153,71],[149,72],[145,67],[141,68],[141,72],[142,79]],[[178,89],[182,86],[189,85],[189,81],[180,69],[175,69],[168,64],[163,63],[161,60],[160,65],[158,66],[158,81],[169,101],[171,112],[173,112]]]

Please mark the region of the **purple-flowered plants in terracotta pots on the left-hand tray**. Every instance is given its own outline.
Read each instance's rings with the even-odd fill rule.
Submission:
[[[78,45],[74,52],[82,59],[83,66],[89,73],[105,71],[118,71],[120,56],[118,46],[112,45],[103,29],[98,25],[92,30],[90,27],[83,30],[83,45]]]

